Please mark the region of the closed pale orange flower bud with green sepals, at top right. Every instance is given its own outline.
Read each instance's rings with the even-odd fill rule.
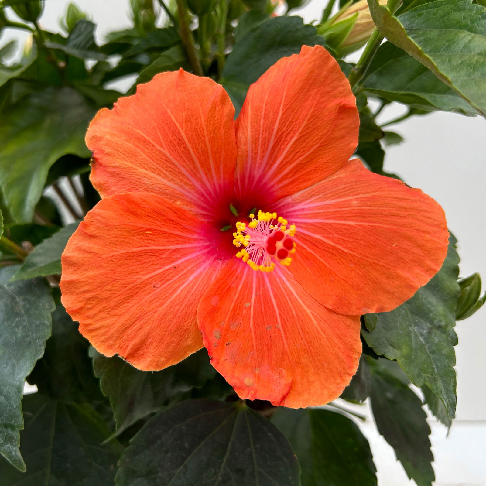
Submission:
[[[387,0],[378,0],[386,5]],[[340,55],[346,55],[362,47],[370,38],[375,24],[371,18],[367,0],[360,0],[342,8],[318,29],[326,43]]]

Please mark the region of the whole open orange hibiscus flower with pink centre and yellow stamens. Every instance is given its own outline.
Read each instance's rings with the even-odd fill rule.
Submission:
[[[62,300],[106,356],[142,370],[203,345],[241,398],[305,407],[356,372],[360,314],[440,268],[442,208],[351,160],[355,99],[320,46],[279,60],[241,114],[182,69],[91,122],[102,200],[62,257]]]

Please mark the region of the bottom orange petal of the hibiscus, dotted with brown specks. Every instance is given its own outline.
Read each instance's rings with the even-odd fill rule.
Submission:
[[[336,314],[290,272],[230,260],[197,311],[211,363],[242,399],[299,408],[328,403],[356,372],[359,317]]]

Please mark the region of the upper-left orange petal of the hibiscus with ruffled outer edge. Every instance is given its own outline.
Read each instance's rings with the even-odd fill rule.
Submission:
[[[224,88],[180,69],[157,74],[89,125],[91,182],[102,197],[155,192],[201,218],[233,188],[234,107]]]

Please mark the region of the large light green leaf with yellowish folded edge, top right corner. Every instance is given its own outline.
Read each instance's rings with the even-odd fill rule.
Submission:
[[[436,0],[394,17],[378,0],[371,16],[386,38],[430,69],[486,116],[486,9],[472,0]]]

